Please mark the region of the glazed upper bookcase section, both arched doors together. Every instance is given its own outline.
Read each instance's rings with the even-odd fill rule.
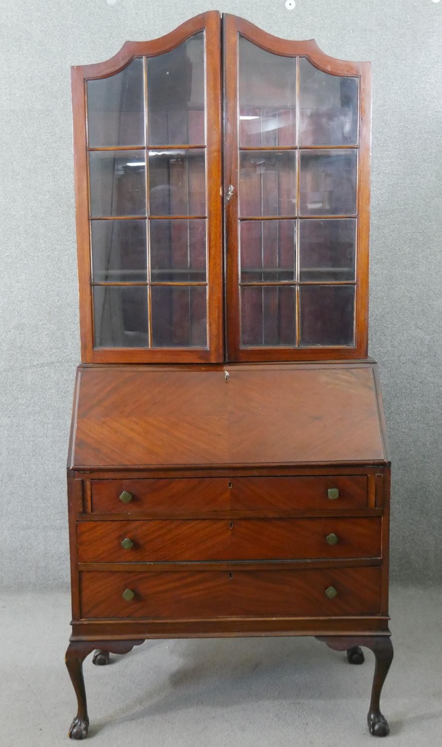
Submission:
[[[223,24],[72,69],[84,362],[367,355],[370,64]]]

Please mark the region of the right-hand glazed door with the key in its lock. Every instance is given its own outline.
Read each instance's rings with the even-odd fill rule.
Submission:
[[[364,357],[370,64],[223,36],[228,359]]]

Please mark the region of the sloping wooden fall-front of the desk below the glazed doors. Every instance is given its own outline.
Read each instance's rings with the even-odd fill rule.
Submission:
[[[385,462],[372,369],[81,367],[69,466]]]

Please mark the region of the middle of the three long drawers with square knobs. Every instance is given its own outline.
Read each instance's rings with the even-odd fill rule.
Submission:
[[[380,517],[79,521],[78,561],[379,557],[381,522]]]

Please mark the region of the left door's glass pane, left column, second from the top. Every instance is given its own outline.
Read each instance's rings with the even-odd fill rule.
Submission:
[[[89,154],[90,214],[146,215],[146,155],[139,150]]]

